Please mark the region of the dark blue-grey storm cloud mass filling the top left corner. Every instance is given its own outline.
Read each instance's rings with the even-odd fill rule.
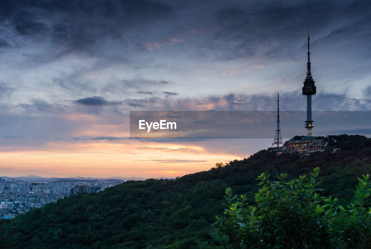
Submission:
[[[169,14],[171,8],[166,4],[147,0],[5,0],[0,20],[10,22],[22,36],[42,36],[69,50],[89,50],[97,40],[124,40],[125,30]]]

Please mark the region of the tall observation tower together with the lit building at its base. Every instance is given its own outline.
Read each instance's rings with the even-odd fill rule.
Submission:
[[[315,151],[324,151],[324,141],[317,139],[312,136],[312,95],[316,94],[316,86],[312,77],[311,71],[311,61],[309,52],[309,31],[308,31],[308,62],[306,63],[306,77],[304,81],[304,86],[302,88],[302,94],[306,95],[306,136],[302,137],[301,140],[289,140],[285,142],[282,147],[283,151],[289,153],[299,153],[299,154],[310,154]]]

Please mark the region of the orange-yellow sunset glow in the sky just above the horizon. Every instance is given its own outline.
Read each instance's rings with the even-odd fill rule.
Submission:
[[[50,142],[46,147],[45,150],[1,151],[2,175],[175,178],[209,170],[220,158],[242,159],[192,144],[146,142],[144,145],[135,139]]]

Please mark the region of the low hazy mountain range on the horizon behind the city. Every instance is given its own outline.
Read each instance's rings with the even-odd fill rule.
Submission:
[[[122,177],[122,176],[112,176],[112,177],[105,177],[105,178],[98,178],[98,177],[82,177],[82,176],[73,176],[73,177],[43,177],[43,176],[37,176],[37,175],[26,175],[26,176],[15,176],[15,177],[9,177],[9,176],[0,176],[1,178],[10,178],[10,179],[17,179],[17,180],[22,180],[22,181],[30,181],[30,180],[38,180],[38,181],[58,181],[58,180],[89,180],[89,181],[94,181],[97,179],[98,181],[105,181],[108,179],[118,179],[118,180],[124,180],[124,181],[141,181],[141,180],[146,180],[149,178],[142,178],[142,177]],[[169,180],[174,180],[174,178],[168,178],[165,176],[157,177],[154,179],[169,179]]]

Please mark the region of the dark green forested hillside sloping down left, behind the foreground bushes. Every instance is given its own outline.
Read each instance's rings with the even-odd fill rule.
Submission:
[[[196,248],[208,240],[210,224],[223,213],[224,191],[254,203],[262,172],[297,177],[320,167],[321,195],[353,197],[357,177],[371,173],[371,139],[328,136],[340,148],[300,157],[259,151],[175,181],[129,181],[98,194],[73,195],[0,223],[0,248]],[[339,203],[342,204],[342,203]]]

